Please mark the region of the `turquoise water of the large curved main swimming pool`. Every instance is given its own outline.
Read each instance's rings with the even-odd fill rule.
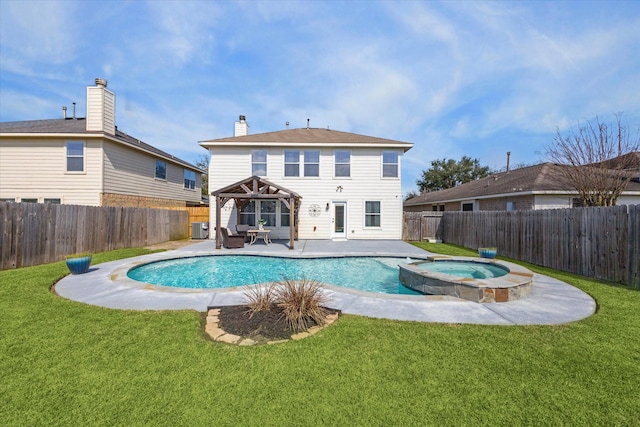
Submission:
[[[405,258],[340,257],[279,258],[217,255],[157,261],[134,267],[131,279],[154,285],[191,289],[221,289],[309,279],[366,292],[421,295],[398,279],[398,264]]]

